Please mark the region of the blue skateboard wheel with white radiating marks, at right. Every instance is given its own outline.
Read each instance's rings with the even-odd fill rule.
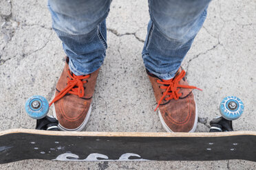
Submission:
[[[224,119],[233,121],[242,116],[244,104],[241,99],[235,96],[225,97],[220,103],[220,114]]]

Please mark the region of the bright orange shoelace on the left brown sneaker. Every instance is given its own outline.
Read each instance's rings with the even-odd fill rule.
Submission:
[[[85,95],[85,88],[83,87],[83,84],[87,83],[87,80],[84,79],[89,78],[90,75],[71,75],[70,71],[67,73],[70,75],[71,79],[67,77],[67,86],[61,90],[61,92],[58,93],[56,97],[54,97],[52,102],[49,104],[49,107],[52,106],[54,102],[65,96],[67,93],[78,95],[78,97],[83,97]]]

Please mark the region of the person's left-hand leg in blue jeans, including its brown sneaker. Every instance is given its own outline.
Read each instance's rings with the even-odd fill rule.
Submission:
[[[82,130],[89,119],[98,69],[107,49],[105,19],[110,3],[111,0],[48,1],[52,27],[67,54],[52,101],[62,130]]]

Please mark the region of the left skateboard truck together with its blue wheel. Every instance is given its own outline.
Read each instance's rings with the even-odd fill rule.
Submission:
[[[58,130],[58,121],[48,117],[49,104],[45,97],[35,95],[25,103],[25,111],[33,119],[36,119],[36,130]]]

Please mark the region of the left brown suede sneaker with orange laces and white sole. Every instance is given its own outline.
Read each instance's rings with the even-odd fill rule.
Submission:
[[[92,110],[92,96],[98,76],[98,70],[89,75],[74,75],[66,59],[61,77],[56,84],[54,103],[54,117],[58,119],[61,130],[81,131],[89,120]]]

